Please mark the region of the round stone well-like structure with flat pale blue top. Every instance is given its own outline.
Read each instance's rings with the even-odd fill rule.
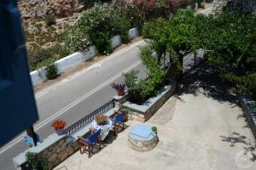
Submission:
[[[128,142],[133,150],[147,151],[154,149],[158,143],[158,137],[152,131],[151,126],[137,125],[136,127],[132,127],[128,133]]]

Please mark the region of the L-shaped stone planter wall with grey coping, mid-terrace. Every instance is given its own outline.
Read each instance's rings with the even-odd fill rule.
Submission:
[[[131,120],[145,122],[166,103],[172,94],[174,94],[175,90],[176,82],[173,81],[170,85],[162,88],[155,97],[148,99],[143,105],[137,105],[130,101],[126,101],[123,106],[130,110]]]

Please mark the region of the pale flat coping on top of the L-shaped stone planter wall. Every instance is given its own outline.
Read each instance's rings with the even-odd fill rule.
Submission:
[[[130,101],[126,101],[123,105],[134,111],[146,113],[152,105],[154,105],[162,96],[164,96],[175,85],[176,85],[176,82],[171,81],[168,85],[161,88],[156,96],[146,100],[143,103],[143,105],[137,105],[137,104],[131,103]]]

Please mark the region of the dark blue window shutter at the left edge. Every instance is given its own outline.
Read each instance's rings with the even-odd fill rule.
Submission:
[[[0,1],[0,147],[38,120],[16,0]]]

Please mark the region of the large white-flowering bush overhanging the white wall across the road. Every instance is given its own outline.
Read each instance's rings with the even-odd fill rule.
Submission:
[[[127,42],[130,28],[130,20],[122,16],[120,8],[113,8],[107,3],[96,3],[84,11],[73,29],[67,32],[67,46],[73,52],[83,52],[90,45],[95,45],[99,54],[110,54],[110,39],[115,34],[120,34]]]

